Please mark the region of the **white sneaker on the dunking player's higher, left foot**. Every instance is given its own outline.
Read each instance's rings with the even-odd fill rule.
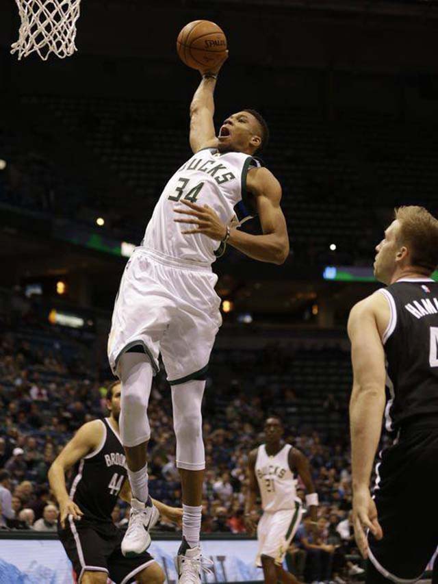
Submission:
[[[139,500],[131,499],[129,525],[122,542],[125,557],[136,557],[151,545],[149,530],[159,520],[159,511],[154,505],[145,505]]]

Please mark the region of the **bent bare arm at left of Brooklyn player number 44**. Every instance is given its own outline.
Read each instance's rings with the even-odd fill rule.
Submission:
[[[83,515],[81,509],[68,496],[65,479],[66,471],[75,465],[78,460],[97,448],[102,437],[102,424],[99,420],[83,424],[70,442],[64,446],[49,468],[47,477],[50,488],[56,497],[58,505],[60,505],[60,522],[63,528],[68,515],[72,515],[74,520],[79,520]]]

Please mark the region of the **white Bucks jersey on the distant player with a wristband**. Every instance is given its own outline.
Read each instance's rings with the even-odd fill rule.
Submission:
[[[268,456],[266,445],[259,446],[255,461],[255,476],[259,482],[261,507],[270,513],[292,509],[296,500],[296,479],[289,468],[290,444],[285,444],[275,456]]]

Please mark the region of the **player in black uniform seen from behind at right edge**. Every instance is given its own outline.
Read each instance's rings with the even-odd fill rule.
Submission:
[[[400,207],[376,252],[374,274],[387,288],[348,321],[353,522],[367,583],[409,583],[438,546],[438,283],[430,278],[438,221],[423,207]],[[393,443],[379,455],[372,498],[383,414]]]

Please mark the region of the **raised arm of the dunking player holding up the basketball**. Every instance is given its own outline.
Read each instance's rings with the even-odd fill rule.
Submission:
[[[190,147],[193,153],[203,148],[216,148],[218,138],[214,131],[214,89],[220,68],[228,58],[212,71],[201,71],[203,78],[190,104]]]

